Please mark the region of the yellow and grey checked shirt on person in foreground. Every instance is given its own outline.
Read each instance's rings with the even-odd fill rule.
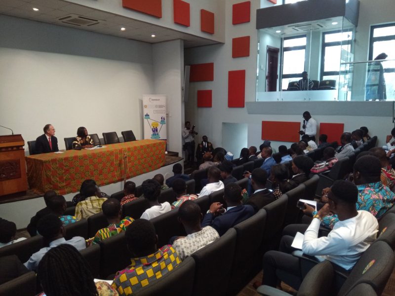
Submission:
[[[170,246],[163,246],[147,257],[131,259],[131,265],[118,271],[113,287],[119,295],[131,295],[171,271],[181,260]]]

